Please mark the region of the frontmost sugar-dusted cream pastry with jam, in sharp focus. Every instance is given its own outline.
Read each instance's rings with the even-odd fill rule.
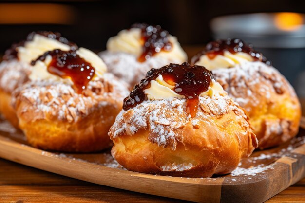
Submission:
[[[179,177],[230,173],[257,147],[243,109],[210,71],[188,63],[150,70],[108,134],[128,170]]]

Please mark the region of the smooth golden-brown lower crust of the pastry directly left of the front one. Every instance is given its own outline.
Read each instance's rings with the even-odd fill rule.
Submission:
[[[33,117],[34,111],[22,112],[27,106],[24,101],[18,104],[19,127],[33,147],[66,152],[92,152],[112,146],[106,135],[120,110],[118,106],[109,104],[77,122],[58,121],[49,119],[49,116],[30,121],[29,118]],[[96,122],[104,115],[109,117]]]

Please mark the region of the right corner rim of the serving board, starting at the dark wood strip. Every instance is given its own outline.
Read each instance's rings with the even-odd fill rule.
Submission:
[[[297,183],[305,177],[305,144],[292,150],[286,156],[278,159],[272,166],[257,175],[265,178],[254,182],[246,182],[243,185],[232,184],[224,181],[222,185],[221,202],[226,203],[261,203]],[[276,168],[276,170],[274,170]],[[251,178],[251,175],[237,177],[238,179]],[[255,191],[255,192],[253,192]],[[243,196],[241,196],[243,194]]]

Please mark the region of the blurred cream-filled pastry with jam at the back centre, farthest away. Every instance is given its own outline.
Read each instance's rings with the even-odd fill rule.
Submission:
[[[187,55],[176,37],[160,25],[145,23],[132,25],[109,38],[107,50],[100,53],[109,72],[133,87],[151,68],[169,63],[183,63]]]

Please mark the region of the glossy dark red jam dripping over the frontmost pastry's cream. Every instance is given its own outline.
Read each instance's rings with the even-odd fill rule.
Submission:
[[[173,91],[187,98],[186,112],[195,117],[198,109],[199,95],[206,92],[211,84],[213,75],[203,66],[191,66],[189,63],[170,64],[159,69],[151,69],[145,79],[134,86],[132,92],[124,99],[125,111],[147,100],[144,93],[150,87],[150,82],[162,75],[163,80],[174,85]]]

